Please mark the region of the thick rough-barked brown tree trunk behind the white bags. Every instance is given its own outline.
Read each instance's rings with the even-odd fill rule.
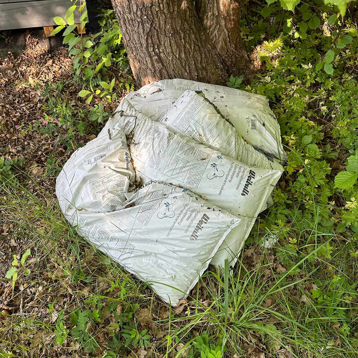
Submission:
[[[225,84],[237,75],[248,61],[238,1],[112,0],[137,86],[165,78]]]

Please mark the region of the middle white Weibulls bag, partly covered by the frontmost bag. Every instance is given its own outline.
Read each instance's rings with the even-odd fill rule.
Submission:
[[[142,183],[160,180],[188,189],[239,217],[212,263],[236,262],[262,205],[281,176],[280,170],[249,167],[205,147],[135,110],[123,99],[113,116],[129,138],[131,158]],[[229,238],[229,240],[228,240]],[[239,250],[240,249],[240,250]]]

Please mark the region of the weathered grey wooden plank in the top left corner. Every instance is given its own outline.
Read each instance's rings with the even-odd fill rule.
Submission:
[[[71,0],[31,0],[1,4],[0,30],[56,25],[52,18],[64,17],[72,5]],[[79,11],[74,14],[75,23],[79,23]]]

